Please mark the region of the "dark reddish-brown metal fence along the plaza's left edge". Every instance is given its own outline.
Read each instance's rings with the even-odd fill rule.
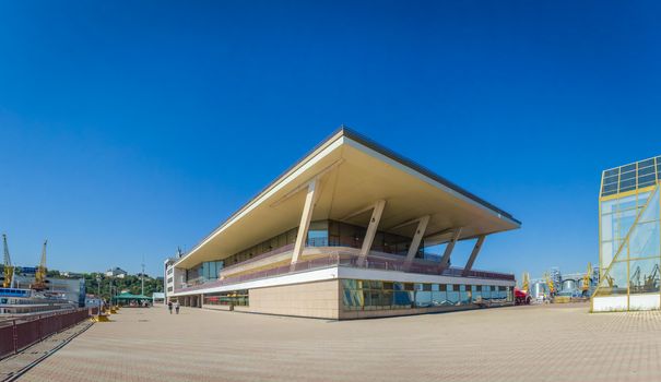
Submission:
[[[90,310],[85,308],[2,321],[0,322],[0,359],[15,355],[88,317]]]

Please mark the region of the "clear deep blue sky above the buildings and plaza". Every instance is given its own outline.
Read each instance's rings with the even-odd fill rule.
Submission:
[[[661,8],[0,2],[15,263],[147,273],[341,123],[523,222],[475,266],[598,260],[601,170],[661,154]],[[459,248],[459,263],[467,247]]]

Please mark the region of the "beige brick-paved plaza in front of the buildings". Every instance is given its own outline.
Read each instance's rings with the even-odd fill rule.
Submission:
[[[661,381],[661,313],[587,305],[331,322],[123,309],[22,381]]]

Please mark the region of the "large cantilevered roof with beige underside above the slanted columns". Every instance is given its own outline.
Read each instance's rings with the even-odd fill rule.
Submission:
[[[416,225],[405,223],[429,215],[426,244],[448,241],[460,227],[459,239],[463,240],[521,225],[509,213],[342,127],[175,265],[190,267],[203,261],[222,260],[297,227],[306,184],[315,178],[319,179],[320,194],[312,220],[335,219],[367,226],[369,206],[385,200],[379,230],[411,237]]]

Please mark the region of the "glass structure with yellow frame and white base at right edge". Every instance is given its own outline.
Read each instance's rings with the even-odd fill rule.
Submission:
[[[599,198],[600,283],[592,311],[661,307],[661,156],[602,172]]]

